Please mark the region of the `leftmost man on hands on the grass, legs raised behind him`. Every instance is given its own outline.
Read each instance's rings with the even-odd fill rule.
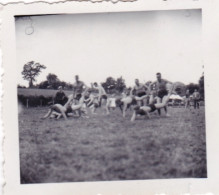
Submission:
[[[62,106],[61,104],[54,104],[50,106],[49,111],[44,117],[42,117],[42,119],[49,118],[50,116],[56,117],[56,119],[59,119],[60,117],[63,116],[64,119],[67,119],[68,113],[73,113],[73,112],[78,112],[80,116],[81,108],[83,107],[87,90],[88,88],[86,88],[85,91],[82,93],[82,96],[77,105],[73,105],[73,95],[70,95],[68,97],[67,103],[64,106]]]

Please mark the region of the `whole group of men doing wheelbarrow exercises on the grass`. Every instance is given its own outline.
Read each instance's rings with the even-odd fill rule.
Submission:
[[[75,83],[73,84],[73,93],[66,96],[62,87],[59,87],[59,91],[55,96],[55,104],[50,106],[48,113],[43,117],[55,117],[59,119],[72,114],[81,116],[83,112],[84,104],[91,109],[91,112],[95,114],[95,110],[101,107],[103,101],[105,101],[106,113],[110,113],[110,108],[120,107],[123,117],[125,117],[126,110],[134,105],[134,112],[131,118],[135,120],[138,115],[145,115],[150,118],[150,112],[158,111],[164,108],[166,115],[167,103],[170,95],[173,92],[174,85],[163,79],[161,73],[157,73],[157,80],[149,84],[142,84],[138,79],[135,80],[135,86],[123,94],[123,97],[115,97],[114,95],[108,95],[105,89],[98,85],[98,83],[92,83],[89,88],[84,82],[79,80],[79,76],[75,76]]]

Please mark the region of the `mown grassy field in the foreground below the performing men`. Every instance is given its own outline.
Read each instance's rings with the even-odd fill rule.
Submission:
[[[134,123],[118,109],[68,121],[45,112],[19,114],[21,183],[207,177],[204,107]]]

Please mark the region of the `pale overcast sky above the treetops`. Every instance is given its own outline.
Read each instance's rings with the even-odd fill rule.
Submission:
[[[32,23],[34,32],[25,33]],[[29,31],[31,32],[31,31]],[[29,61],[47,67],[37,83],[54,73],[87,84],[122,76],[127,85],[156,79],[197,83],[203,72],[201,10],[50,15],[16,20],[18,83]]]

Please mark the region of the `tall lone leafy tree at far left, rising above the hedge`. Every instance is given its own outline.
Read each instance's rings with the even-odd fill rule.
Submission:
[[[46,69],[46,66],[30,61],[23,67],[21,74],[25,80],[29,81],[29,88],[33,87],[33,82],[36,81],[36,77],[40,74],[42,69]]]

